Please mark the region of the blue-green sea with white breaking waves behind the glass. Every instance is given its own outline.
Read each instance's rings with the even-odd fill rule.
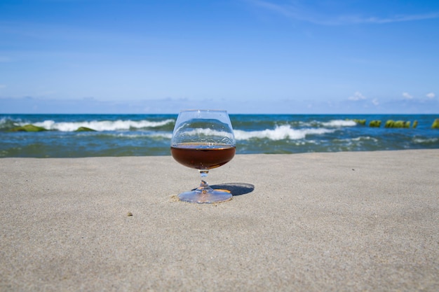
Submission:
[[[439,148],[439,130],[432,128],[439,114],[229,116],[237,154]],[[170,155],[176,119],[177,114],[0,114],[0,158]],[[372,120],[381,126],[370,127]],[[388,120],[410,127],[384,127]],[[11,131],[29,124],[45,131]],[[76,132],[79,127],[94,131]]]

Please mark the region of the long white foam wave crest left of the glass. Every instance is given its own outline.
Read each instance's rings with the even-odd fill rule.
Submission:
[[[90,122],[61,122],[57,123],[54,120],[45,120],[41,123],[34,123],[39,127],[44,127],[47,130],[58,130],[62,132],[72,132],[79,127],[88,127],[96,131],[116,131],[116,130],[130,130],[132,128],[141,129],[145,127],[161,127],[169,123],[174,123],[173,119],[161,120],[158,122],[151,120],[92,120]]]

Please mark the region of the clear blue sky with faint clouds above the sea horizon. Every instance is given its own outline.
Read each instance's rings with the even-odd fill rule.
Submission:
[[[439,113],[439,1],[0,1],[0,113],[194,108]]]

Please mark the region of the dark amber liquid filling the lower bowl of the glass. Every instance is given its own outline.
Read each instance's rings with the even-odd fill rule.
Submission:
[[[208,145],[203,143],[182,143],[171,146],[173,158],[184,166],[195,169],[212,169],[225,165],[235,155],[235,147],[229,145]]]

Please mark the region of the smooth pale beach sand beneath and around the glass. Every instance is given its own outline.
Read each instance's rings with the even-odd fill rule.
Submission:
[[[439,291],[439,150],[0,159],[0,291]],[[132,216],[128,216],[131,215]]]

